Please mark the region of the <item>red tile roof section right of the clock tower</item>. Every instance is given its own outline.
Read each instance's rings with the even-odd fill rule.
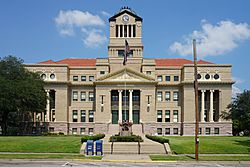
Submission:
[[[155,59],[156,66],[183,66],[184,64],[193,64],[193,61],[187,59]],[[213,64],[211,62],[199,60],[198,64]]]

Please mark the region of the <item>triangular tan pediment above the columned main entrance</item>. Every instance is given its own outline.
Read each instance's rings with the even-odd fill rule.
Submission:
[[[96,82],[127,82],[127,83],[145,83],[145,82],[155,82],[154,78],[149,77],[143,73],[136,72],[129,68],[124,68],[122,70],[107,74],[106,76],[100,77]]]

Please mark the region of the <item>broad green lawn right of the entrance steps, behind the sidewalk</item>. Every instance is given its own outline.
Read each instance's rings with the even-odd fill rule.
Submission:
[[[176,154],[193,154],[194,137],[169,136],[171,150]],[[201,154],[250,154],[250,137],[201,136]]]

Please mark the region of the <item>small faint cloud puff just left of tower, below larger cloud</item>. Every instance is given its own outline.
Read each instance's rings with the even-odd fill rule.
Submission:
[[[88,48],[96,48],[107,41],[107,37],[101,30],[92,29],[88,31],[82,29],[82,31],[87,34],[87,37],[83,39],[83,43]]]

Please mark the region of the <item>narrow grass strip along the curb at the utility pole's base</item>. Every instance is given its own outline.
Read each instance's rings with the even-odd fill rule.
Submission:
[[[150,155],[152,161],[194,161],[192,156]],[[250,156],[199,156],[200,161],[250,161]]]

